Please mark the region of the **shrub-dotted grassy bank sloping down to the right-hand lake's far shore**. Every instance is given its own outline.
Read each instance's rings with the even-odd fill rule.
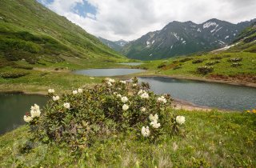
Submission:
[[[198,70],[198,67],[210,70]],[[183,77],[210,78],[216,80],[256,83],[256,54],[218,53],[183,58],[170,58],[146,62],[142,66],[148,74],[176,75]]]

